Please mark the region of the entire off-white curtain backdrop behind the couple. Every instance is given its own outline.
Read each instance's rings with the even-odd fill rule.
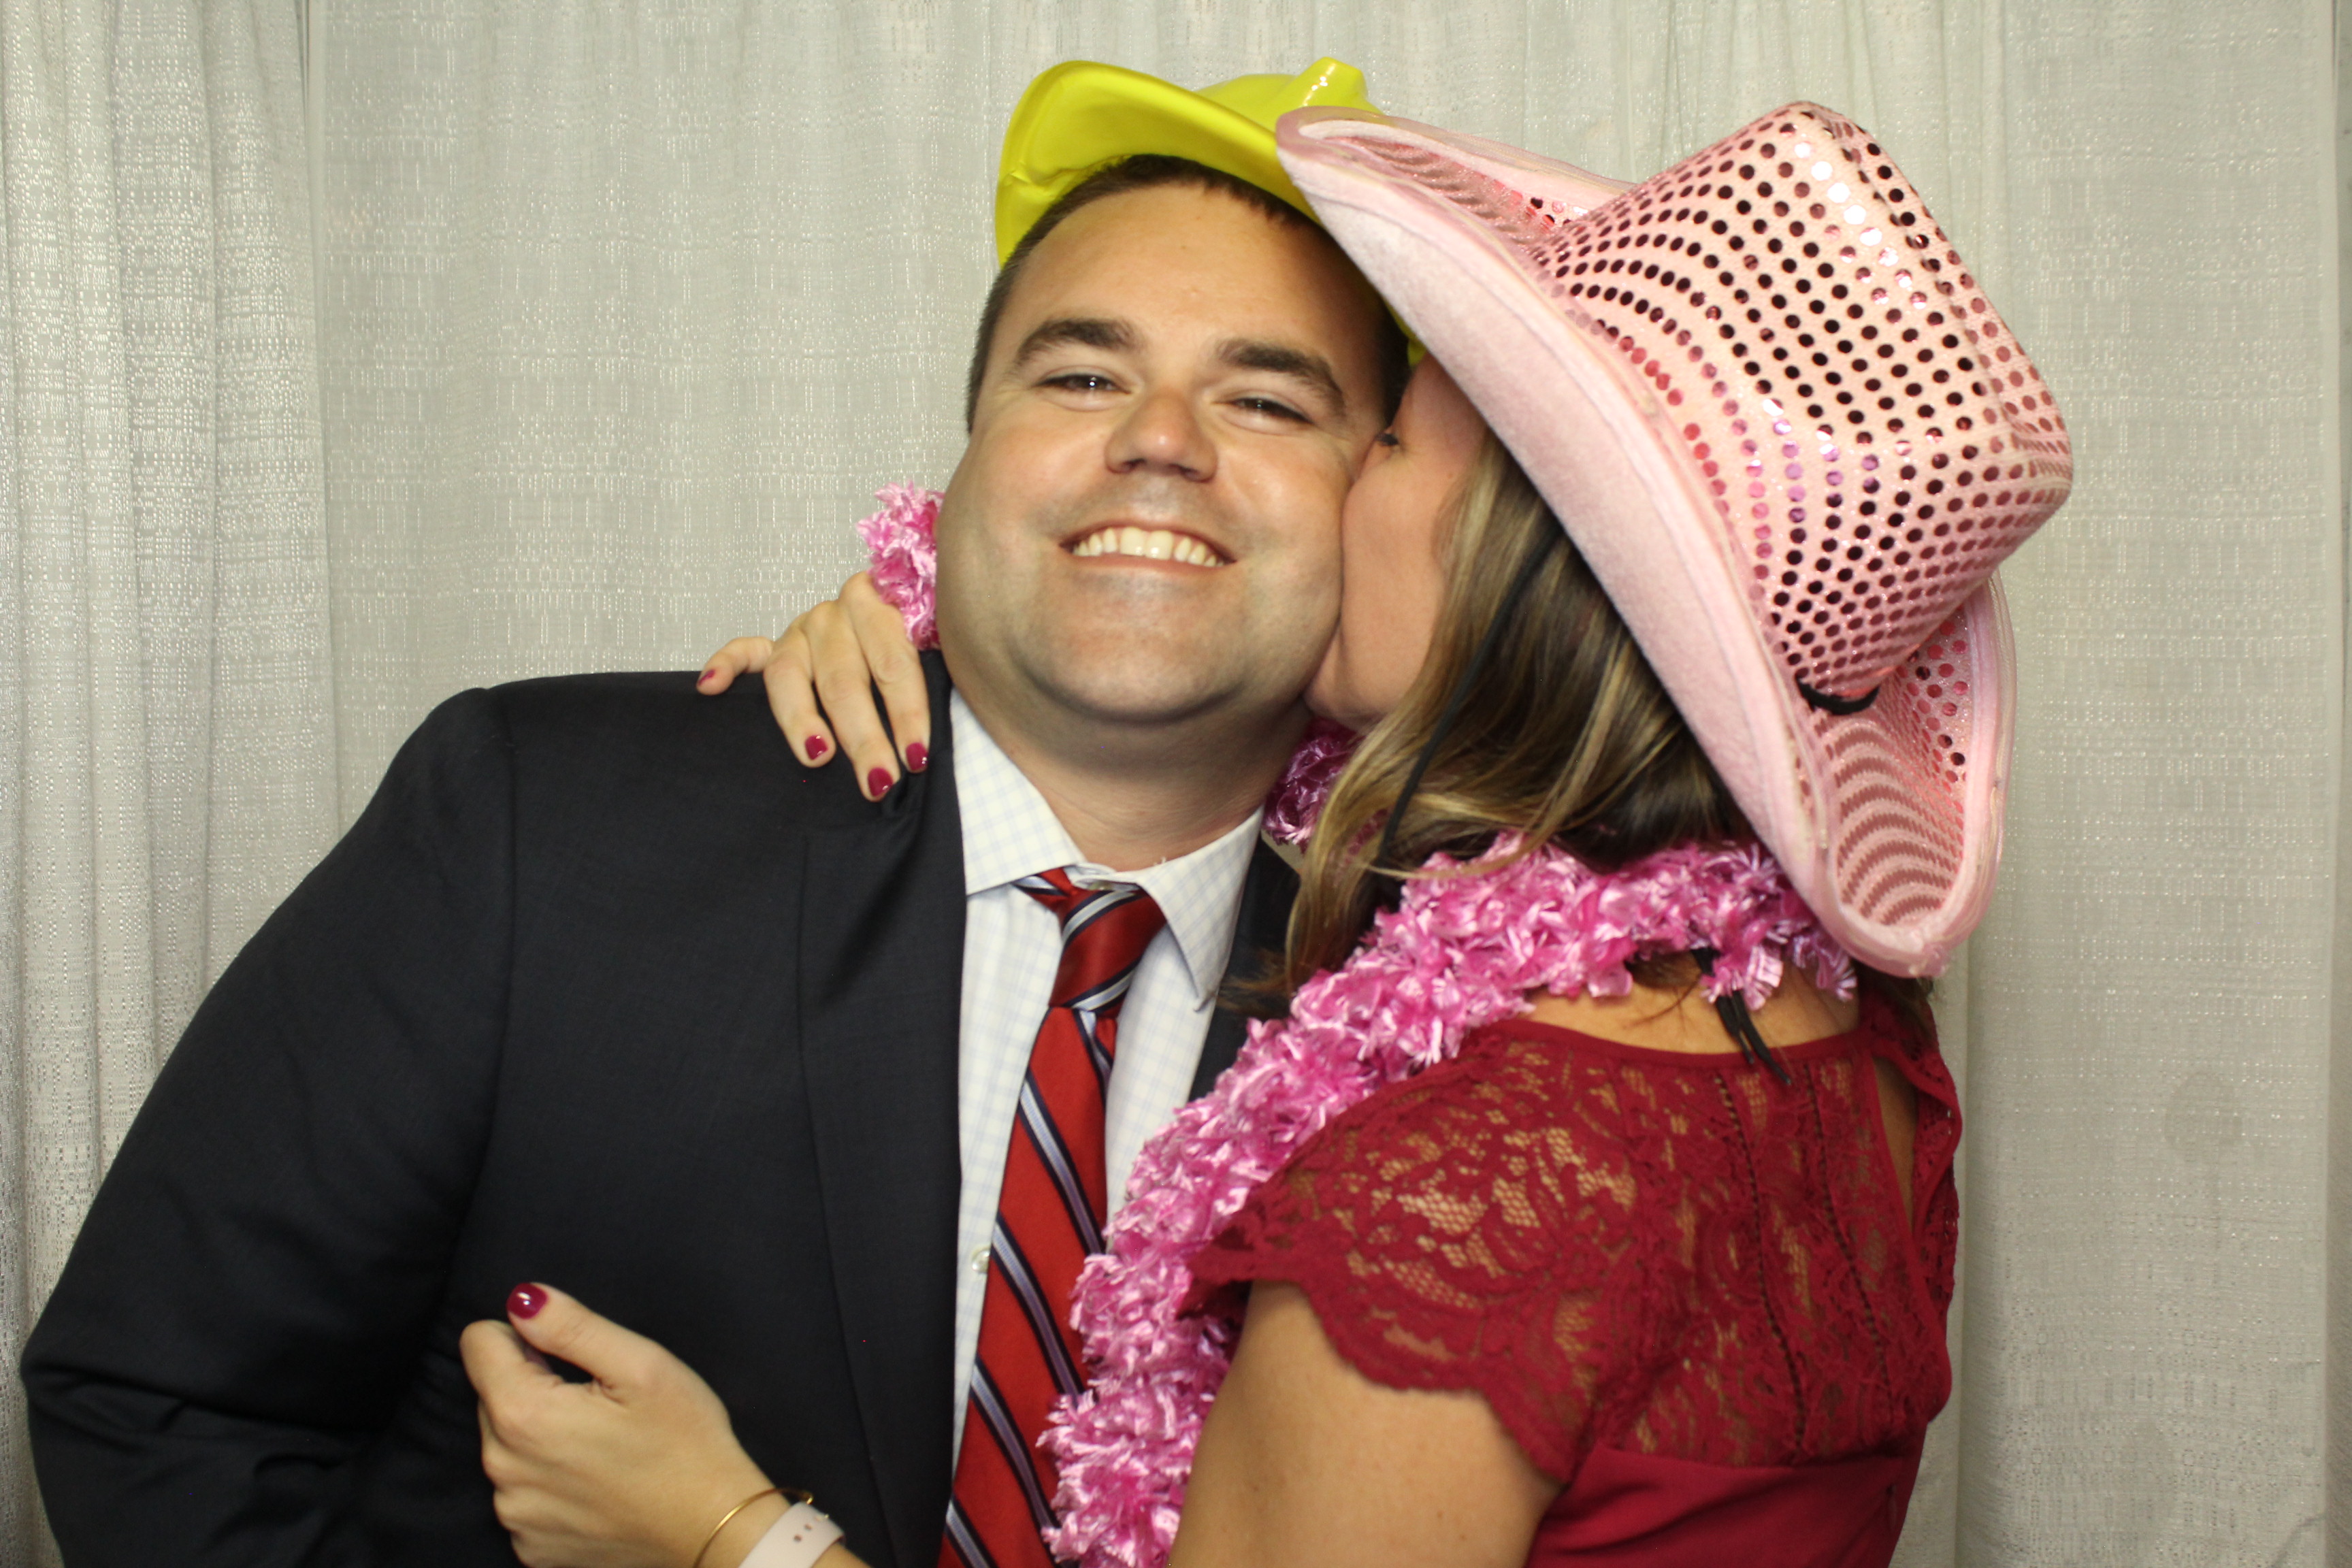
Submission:
[[[1804,96],[1910,172],[2079,463],[2006,574],[2006,870],[1940,994],[1959,1387],[1900,1561],[2352,1568],[2324,0],[315,0],[306,54],[294,5],[0,0],[9,1349],[202,985],[435,701],[774,630],[877,484],[946,477],[1042,66],[1336,54],[1618,176]]]

